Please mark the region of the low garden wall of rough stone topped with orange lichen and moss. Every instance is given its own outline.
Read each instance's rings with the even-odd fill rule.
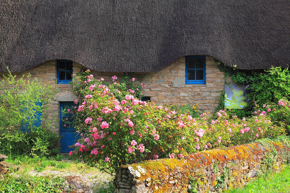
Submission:
[[[119,168],[114,184],[122,193],[221,192],[244,186],[271,159],[279,172],[289,151],[284,143],[267,142],[202,151],[183,160],[145,161]]]

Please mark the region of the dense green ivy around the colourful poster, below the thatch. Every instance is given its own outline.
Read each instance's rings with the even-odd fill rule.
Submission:
[[[263,104],[277,103],[281,98],[290,99],[290,71],[288,68],[272,67],[268,70],[241,70],[231,68],[220,61],[215,61],[221,72],[226,77],[231,77],[235,84],[250,85],[250,94],[247,95],[249,104],[246,109],[232,109],[231,112],[238,117],[251,115],[254,108]],[[215,112],[224,109],[224,93],[221,94],[219,105]]]

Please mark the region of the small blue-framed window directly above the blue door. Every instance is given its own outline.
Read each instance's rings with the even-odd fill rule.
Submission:
[[[57,61],[57,83],[67,84],[73,80],[73,61]]]

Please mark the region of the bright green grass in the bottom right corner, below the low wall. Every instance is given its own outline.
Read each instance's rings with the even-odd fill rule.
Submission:
[[[226,193],[287,193],[290,192],[290,165],[278,174],[249,182],[245,187]]]

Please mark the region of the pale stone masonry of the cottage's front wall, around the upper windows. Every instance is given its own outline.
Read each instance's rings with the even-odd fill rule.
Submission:
[[[59,131],[59,101],[74,101],[72,96],[72,85],[57,84],[56,60],[47,61],[35,68],[24,72],[13,72],[19,79],[24,74],[31,74],[30,79],[42,79],[42,83],[57,86],[58,101],[51,102],[48,110],[48,119],[53,121],[54,130]],[[84,66],[73,62],[73,73],[79,72]],[[117,75],[118,80],[124,76],[123,72],[97,72],[91,70],[96,78],[104,78],[111,81],[113,75]],[[7,72],[0,72],[7,75]],[[214,59],[206,56],[206,84],[185,84],[185,57],[177,59],[163,70],[158,72],[147,72],[134,74],[136,81],[144,83],[142,88],[144,96],[151,97],[151,101],[157,104],[196,104],[200,109],[212,112],[218,106],[220,93],[224,91],[224,73],[217,68]],[[228,78],[228,81],[230,79]]]

